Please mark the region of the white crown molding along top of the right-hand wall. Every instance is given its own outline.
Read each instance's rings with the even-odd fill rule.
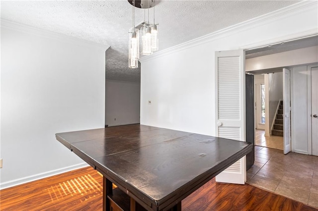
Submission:
[[[283,16],[283,15],[287,15],[290,13],[299,12],[299,11],[305,10],[309,7],[313,7],[315,5],[317,7],[318,1],[316,1],[316,0],[304,0],[304,1],[292,4],[290,6],[275,10],[273,12],[269,12],[267,14],[243,21],[241,23],[238,23],[238,24],[235,24],[235,25],[232,25],[229,27],[226,27],[224,29],[221,29],[221,30],[218,30],[216,32],[204,35],[202,37],[198,37],[196,39],[187,41],[185,43],[173,46],[171,48],[164,49],[164,50],[159,51],[157,53],[154,53],[152,55],[144,56],[144,57],[140,58],[139,61],[143,62],[143,61],[152,60],[152,59],[155,59],[155,58],[158,58],[158,57],[170,54],[170,53],[176,53],[176,52],[188,49],[188,48],[192,48],[192,47],[197,46],[197,45],[202,45],[202,44],[211,42],[213,40],[217,40],[223,36],[227,36],[227,35],[230,35],[232,33],[236,33],[240,30],[245,30],[246,28],[257,27],[258,25],[261,25],[266,21],[270,21],[272,19],[278,18],[278,17]]]

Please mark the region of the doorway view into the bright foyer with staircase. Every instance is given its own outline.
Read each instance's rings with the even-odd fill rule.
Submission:
[[[282,117],[283,74],[275,71],[254,72],[255,145],[283,150],[283,120],[276,119]]]

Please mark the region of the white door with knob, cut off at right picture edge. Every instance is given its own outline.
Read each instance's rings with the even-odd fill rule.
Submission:
[[[318,67],[312,73],[312,155],[318,156]]]

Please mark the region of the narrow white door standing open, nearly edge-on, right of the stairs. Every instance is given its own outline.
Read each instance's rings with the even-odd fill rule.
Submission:
[[[291,150],[290,137],[290,70],[283,68],[284,154]]]

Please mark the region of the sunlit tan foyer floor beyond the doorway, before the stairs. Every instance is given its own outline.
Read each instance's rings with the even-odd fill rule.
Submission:
[[[255,131],[255,145],[273,149],[284,150],[284,137],[264,136],[264,130]]]

